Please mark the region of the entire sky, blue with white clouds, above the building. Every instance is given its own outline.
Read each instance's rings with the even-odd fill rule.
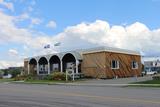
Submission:
[[[159,10],[160,0],[0,0],[0,69],[97,46],[160,56]]]

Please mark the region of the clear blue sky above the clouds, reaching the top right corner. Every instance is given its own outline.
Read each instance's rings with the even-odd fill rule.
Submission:
[[[27,1],[27,2],[26,2]],[[32,0],[15,3],[13,15],[21,14],[32,4]],[[56,34],[67,26],[80,22],[92,22],[97,19],[106,20],[112,25],[132,24],[141,22],[150,29],[159,28],[160,0],[37,0],[34,4],[32,16],[41,18],[44,23],[54,20],[55,30],[45,29],[44,25],[35,27],[45,33]],[[28,23],[20,26],[26,27]]]

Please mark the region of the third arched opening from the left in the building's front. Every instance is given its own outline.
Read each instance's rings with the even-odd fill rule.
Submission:
[[[51,58],[49,59],[51,73],[54,71],[60,71],[60,63],[60,58],[57,55],[51,56]]]

